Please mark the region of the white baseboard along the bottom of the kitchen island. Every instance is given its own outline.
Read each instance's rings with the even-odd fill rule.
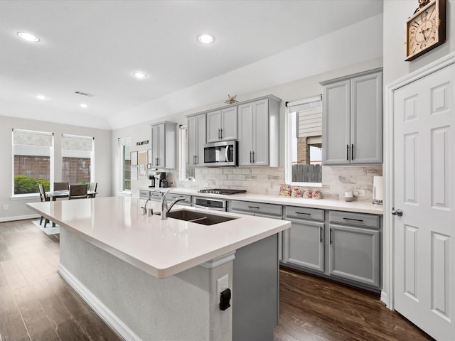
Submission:
[[[125,325],[117,315],[112,313],[86,286],[84,286],[65,266],[58,264],[58,274],[76,291],[100,318],[125,341],[141,341],[134,332]]]

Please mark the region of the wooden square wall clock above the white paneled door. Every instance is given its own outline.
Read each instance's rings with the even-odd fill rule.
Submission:
[[[446,0],[419,0],[419,3],[421,6],[406,21],[406,61],[446,41]]]

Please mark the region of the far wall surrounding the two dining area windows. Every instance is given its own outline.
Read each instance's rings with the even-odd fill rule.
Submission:
[[[68,126],[65,124],[54,124],[45,121],[31,119],[18,119],[15,117],[0,116],[0,222],[26,218],[33,215],[33,212],[26,207],[27,202],[40,201],[39,195],[36,198],[12,199],[13,179],[13,158],[12,158],[12,129],[28,129],[36,131],[50,131],[54,133],[54,180],[62,178],[62,134],[73,134],[80,136],[95,137],[95,182],[98,183],[97,192],[99,196],[111,195],[111,135],[112,131],[92,129],[82,126]],[[9,210],[3,210],[8,205]]]

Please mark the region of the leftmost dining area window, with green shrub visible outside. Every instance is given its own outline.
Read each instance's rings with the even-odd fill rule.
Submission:
[[[50,190],[53,182],[53,133],[13,129],[13,195]]]

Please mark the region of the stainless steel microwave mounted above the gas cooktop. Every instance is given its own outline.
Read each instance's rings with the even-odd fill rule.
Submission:
[[[237,166],[238,142],[223,141],[204,145],[204,166]]]

